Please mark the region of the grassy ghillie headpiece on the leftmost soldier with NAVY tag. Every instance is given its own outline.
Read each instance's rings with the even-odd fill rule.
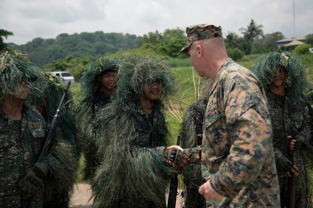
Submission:
[[[37,67],[28,62],[26,55],[19,51],[3,51],[0,55],[0,100],[5,95],[14,96],[21,88],[21,82],[30,82],[31,96],[40,96],[43,76]],[[19,59],[20,60],[19,60]]]

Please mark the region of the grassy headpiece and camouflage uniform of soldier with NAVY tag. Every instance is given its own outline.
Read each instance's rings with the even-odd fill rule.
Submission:
[[[0,102],[5,95],[14,97],[20,89],[20,82],[32,77],[37,80],[30,81],[31,96],[41,95],[38,90],[44,80],[41,72],[19,55],[17,57],[21,60],[13,59],[13,54],[9,52],[0,55]],[[21,129],[0,110],[0,207],[21,206],[17,183],[22,174],[36,162],[46,131],[46,123],[38,111],[29,109],[24,104]],[[34,195],[31,205],[43,207],[42,188]]]

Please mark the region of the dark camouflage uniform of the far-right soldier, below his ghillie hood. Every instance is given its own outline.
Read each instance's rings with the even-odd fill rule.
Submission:
[[[306,176],[305,168],[306,163],[310,160],[310,158],[306,158],[306,152],[312,151],[309,108],[304,99],[300,96],[291,97],[288,90],[284,104],[271,91],[268,90],[266,95],[273,126],[275,160],[281,156],[291,158],[290,139],[287,137],[293,135],[293,129],[295,129],[295,137],[302,141],[301,148],[295,149],[293,154],[295,166],[299,169],[296,175],[295,207],[305,208],[307,199],[311,199],[311,194],[308,195],[307,191],[311,183]],[[282,206],[285,206],[288,176],[283,172],[277,173],[280,182],[281,203]]]

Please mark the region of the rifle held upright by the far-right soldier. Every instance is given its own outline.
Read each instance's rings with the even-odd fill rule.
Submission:
[[[295,130],[292,132],[292,139],[295,139]],[[291,150],[291,158],[290,160],[295,164],[295,160],[293,159],[294,150]],[[294,208],[295,207],[295,183],[297,181],[296,175],[290,171],[291,177],[288,177],[288,186],[287,186],[287,198],[286,198],[286,208]]]

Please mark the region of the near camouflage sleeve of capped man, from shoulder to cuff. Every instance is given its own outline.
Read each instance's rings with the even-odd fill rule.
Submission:
[[[263,88],[240,76],[228,80],[219,99],[225,106],[231,146],[225,164],[210,182],[219,194],[233,198],[256,180],[264,163],[272,158],[273,147]]]

